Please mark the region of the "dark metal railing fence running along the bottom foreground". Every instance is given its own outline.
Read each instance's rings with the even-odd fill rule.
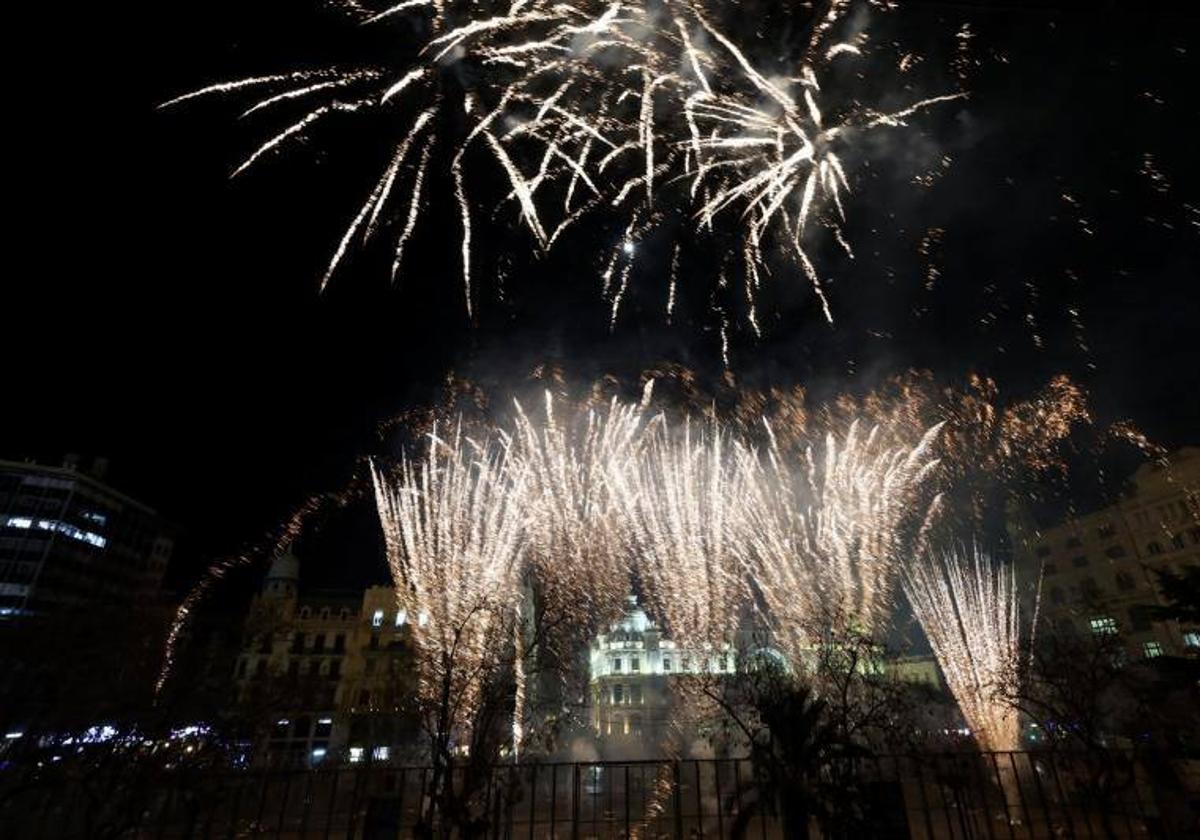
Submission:
[[[462,785],[461,770],[454,784]],[[4,782],[0,781],[0,785]],[[12,838],[412,836],[432,772],[355,766],[295,772],[162,772],[42,779],[0,792]],[[1145,768],[1034,752],[890,756],[824,768],[830,796],[810,836],[1165,836]],[[785,836],[779,797],[748,760],[527,763],[485,774],[472,835],[486,838]],[[799,836],[804,827],[786,834]],[[822,834],[824,832],[824,834]],[[463,836],[458,827],[450,834]]]

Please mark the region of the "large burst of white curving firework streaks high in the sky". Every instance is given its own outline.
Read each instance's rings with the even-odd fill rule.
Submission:
[[[809,42],[787,77],[756,62],[722,28],[725,18],[744,18],[743,5],[340,5],[361,26],[395,32],[396,49],[373,64],[223,82],[164,104],[248,96],[244,115],[256,118],[299,107],[296,119],[248,155],[235,175],[338,118],[361,121],[382,114],[388,125],[400,125],[389,161],[352,217],[322,287],[354,246],[384,228],[394,240],[395,280],[425,197],[445,192],[426,182],[449,178],[462,224],[468,318],[479,296],[472,283],[473,216],[480,212],[475,196],[488,193],[476,190],[480,175],[468,170],[487,157],[506,185],[500,204],[512,203],[535,253],[583,217],[606,220],[623,232],[600,260],[613,323],[628,296],[637,241],[659,229],[671,236],[695,234],[697,226],[702,236],[732,235],[739,242],[734,250],[743,252],[748,322],[755,334],[755,300],[773,258],[808,278],[832,320],[833,306],[809,247],[812,229],[823,227],[850,248],[841,232],[850,191],[847,150],[862,132],[904,126],[917,112],[961,96],[881,112],[841,102],[836,90],[822,88],[822,77],[860,56],[866,43],[864,32],[839,40],[852,6],[841,1],[812,20]],[[778,55],[770,58],[770,64],[778,61]],[[676,307],[677,262],[672,258],[668,319]]]

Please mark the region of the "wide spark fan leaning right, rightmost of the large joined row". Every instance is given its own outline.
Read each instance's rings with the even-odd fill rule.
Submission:
[[[743,550],[793,661],[818,628],[886,626],[899,565],[941,508],[931,490],[941,424],[896,446],[884,445],[880,426],[860,430],[854,420],[842,437],[828,433],[798,463],[772,440],[761,475],[748,482]]]

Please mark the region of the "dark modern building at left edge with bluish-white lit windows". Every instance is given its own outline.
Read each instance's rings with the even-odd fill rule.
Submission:
[[[103,484],[106,466],[0,461],[0,618],[157,596],[173,529]]]

